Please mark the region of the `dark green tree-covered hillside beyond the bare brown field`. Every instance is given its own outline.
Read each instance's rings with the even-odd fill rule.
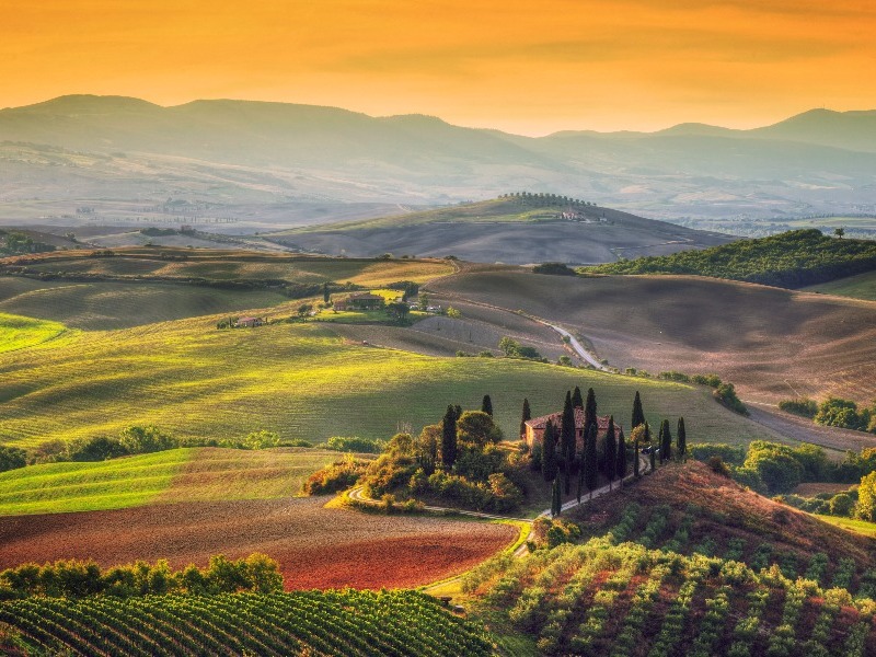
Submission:
[[[876,242],[796,230],[662,257],[586,269],[596,274],[694,274],[797,288],[876,269]]]

